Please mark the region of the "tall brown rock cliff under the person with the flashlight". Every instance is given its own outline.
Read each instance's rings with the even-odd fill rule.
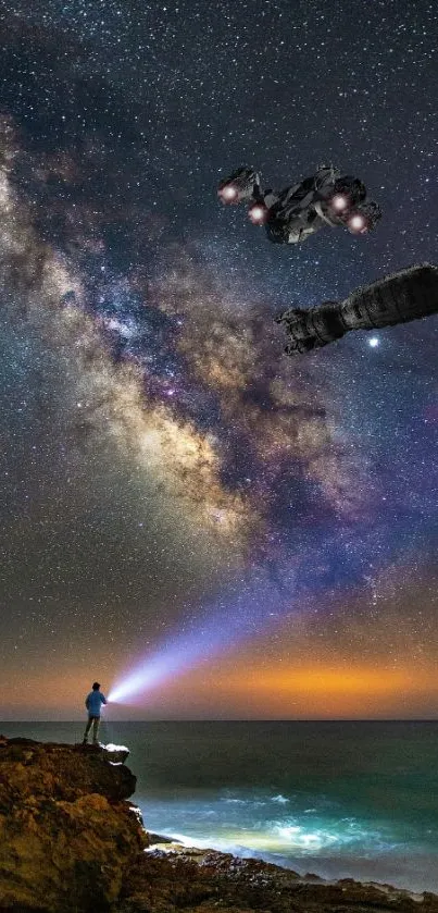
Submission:
[[[99,749],[0,742],[0,909],[104,910],[146,843],[136,778]]]

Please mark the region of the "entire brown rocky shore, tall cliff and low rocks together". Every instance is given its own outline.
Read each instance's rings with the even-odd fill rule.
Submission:
[[[0,737],[0,913],[438,913],[429,892],[157,846],[127,754]]]

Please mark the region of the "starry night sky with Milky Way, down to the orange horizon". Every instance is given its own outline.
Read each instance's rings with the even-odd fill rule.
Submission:
[[[436,717],[438,318],[295,359],[273,320],[438,262],[436,2],[7,0],[0,34],[0,718],[145,659],[113,719]],[[323,162],[368,237],[217,201]]]

